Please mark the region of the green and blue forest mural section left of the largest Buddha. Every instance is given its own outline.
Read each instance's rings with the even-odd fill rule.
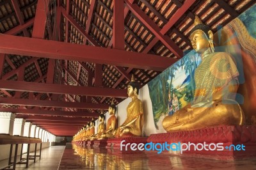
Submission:
[[[195,82],[193,74],[200,64],[201,58],[194,50],[164,70],[154,80],[148,82],[154,122],[187,105],[193,100]]]

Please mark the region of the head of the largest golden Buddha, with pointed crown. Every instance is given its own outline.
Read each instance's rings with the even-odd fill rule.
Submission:
[[[198,16],[195,16],[194,25],[189,36],[193,49],[199,54],[206,50],[214,52],[213,33],[210,27],[203,24]]]

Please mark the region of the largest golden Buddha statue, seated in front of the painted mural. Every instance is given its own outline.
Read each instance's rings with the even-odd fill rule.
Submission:
[[[164,129],[175,132],[218,125],[243,125],[244,112],[235,100],[239,72],[234,59],[227,52],[214,52],[212,31],[197,16],[190,40],[202,58],[195,70],[194,100],[172,116],[166,116]]]

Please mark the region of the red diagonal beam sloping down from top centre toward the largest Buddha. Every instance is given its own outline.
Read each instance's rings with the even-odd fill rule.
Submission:
[[[161,29],[157,24],[154,23],[152,19],[150,19],[137,4],[131,4],[129,1],[124,0],[129,10],[131,10],[134,15],[138,19],[141,20],[141,22],[147,26],[147,28],[154,33],[154,35],[159,38],[159,40],[170,50],[172,53],[177,56],[177,58],[182,58],[183,52],[182,50],[166,35],[162,35],[160,33]]]

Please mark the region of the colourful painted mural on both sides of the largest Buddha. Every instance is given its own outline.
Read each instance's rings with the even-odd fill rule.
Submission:
[[[237,102],[246,114],[247,124],[256,124],[256,5],[215,35],[214,45],[217,51],[229,52],[239,70],[239,94]],[[163,118],[193,100],[195,82],[194,72],[201,59],[191,50],[182,59],[164,70],[155,79],[148,82],[154,124],[157,132],[163,132]]]

